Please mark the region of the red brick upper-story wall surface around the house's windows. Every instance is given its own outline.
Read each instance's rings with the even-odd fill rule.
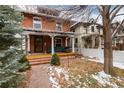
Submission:
[[[34,16],[36,17],[36,16]],[[42,29],[55,31],[56,29],[56,20],[53,18],[41,17]],[[23,27],[32,28],[33,27],[33,15],[24,14],[24,20],[22,22]],[[63,31],[70,31],[70,23],[63,22],[62,24]]]

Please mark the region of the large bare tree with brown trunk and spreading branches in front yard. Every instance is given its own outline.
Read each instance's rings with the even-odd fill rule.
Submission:
[[[119,31],[121,25],[124,23],[124,20],[112,31],[112,23],[117,16],[122,16],[124,13],[119,13],[119,11],[123,8],[122,5],[99,5],[99,6],[71,6],[67,9],[66,14],[71,13],[71,17],[76,15],[82,16],[81,21],[84,19],[88,19],[90,21],[90,15],[92,15],[93,11],[98,10],[98,17],[95,19],[95,23],[98,18],[101,16],[102,25],[103,25],[103,36],[104,36],[104,72],[112,75],[113,69],[113,51],[112,51],[112,38]],[[85,13],[86,12],[86,13]],[[64,14],[65,15],[65,14]],[[86,17],[88,15],[88,18]]]

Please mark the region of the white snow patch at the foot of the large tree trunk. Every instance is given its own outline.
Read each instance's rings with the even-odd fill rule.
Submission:
[[[106,74],[104,71],[99,72],[97,75],[92,74],[92,77],[96,79],[99,83],[101,83],[103,86],[109,85],[114,88],[119,87],[114,82],[111,82],[112,77]]]

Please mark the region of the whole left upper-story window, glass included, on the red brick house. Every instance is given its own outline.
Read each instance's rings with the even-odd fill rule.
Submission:
[[[39,17],[33,17],[33,28],[34,29],[42,29],[42,22]]]

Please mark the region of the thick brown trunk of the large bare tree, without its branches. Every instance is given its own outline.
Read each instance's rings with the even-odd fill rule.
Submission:
[[[104,34],[104,72],[113,72],[112,34],[109,13],[103,13],[103,34]]]

